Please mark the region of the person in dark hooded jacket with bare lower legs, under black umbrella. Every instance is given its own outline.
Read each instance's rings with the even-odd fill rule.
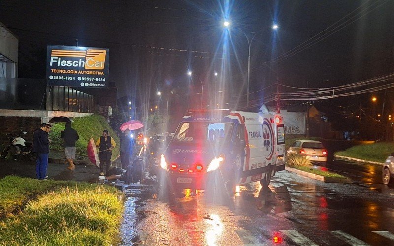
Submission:
[[[77,131],[71,127],[71,123],[67,122],[65,125],[65,130],[60,133],[60,137],[63,138],[66,159],[70,163],[68,169],[75,170],[75,164],[73,162],[76,151],[75,142],[79,139],[79,135]]]

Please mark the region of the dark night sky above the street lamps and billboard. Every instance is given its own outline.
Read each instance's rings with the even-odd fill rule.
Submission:
[[[393,0],[0,2],[0,21],[19,38],[19,77],[45,78],[46,46],[76,46],[78,39],[79,46],[109,48],[110,81],[118,87],[118,97],[156,100],[160,90],[196,102],[199,79],[205,91],[212,91],[214,72],[226,73],[222,89],[227,101],[244,100],[244,34],[255,36],[250,92],[277,81],[321,88],[391,73],[393,13]],[[226,17],[231,23],[228,32],[222,26]],[[273,23],[279,25],[277,31],[271,30]],[[336,32],[328,33],[327,28]],[[319,33],[327,35],[287,53]],[[230,39],[224,49],[226,35]],[[188,70],[196,75],[192,82]]]

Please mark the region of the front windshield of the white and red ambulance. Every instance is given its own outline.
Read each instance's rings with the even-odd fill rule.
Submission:
[[[230,139],[233,126],[232,123],[183,122],[175,132],[173,140],[224,142]]]

